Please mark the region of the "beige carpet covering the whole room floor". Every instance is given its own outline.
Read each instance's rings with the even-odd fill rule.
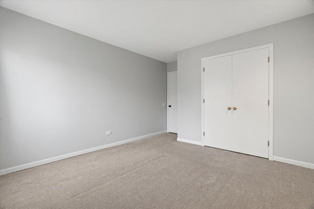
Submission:
[[[314,170],[163,134],[0,177],[1,209],[314,209]]]

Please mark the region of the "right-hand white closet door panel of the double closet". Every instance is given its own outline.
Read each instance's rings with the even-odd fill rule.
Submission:
[[[232,55],[235,152],[268,158],[268,48]]]

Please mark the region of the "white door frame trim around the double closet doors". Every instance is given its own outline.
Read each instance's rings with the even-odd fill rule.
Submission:
[[[204,57],[201,59],[201,124],[202,124],[202,132],[201,132],[201,139],[202,139],[202,146],[205,146],[205,137],[204,137],[204,61],[210,60],[218,57],[224,57],[239,53],[244,53],[248,51],[255,51],[263,48],[268,48],[269,53],[269,63],[268,63],[268,98],[269,98],[269,106],[268,106],[268,140],[269,140],[269,147],[268,147],[268,159],[270,161],[273,160],[274,156],[274,44],[266,44],[262,46],[256,46],[252,48],[241,49],[237,51],[232,51],[224,54],[218,54],[210,57]]]

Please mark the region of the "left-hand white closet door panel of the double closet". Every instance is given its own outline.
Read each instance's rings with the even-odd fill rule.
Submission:
[[[205,145],[231,149],[232,56],[204,61]]]

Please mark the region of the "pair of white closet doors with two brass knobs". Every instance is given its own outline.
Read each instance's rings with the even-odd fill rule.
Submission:
[[[204,61],[205,145],[268,158],[268,54]]]

